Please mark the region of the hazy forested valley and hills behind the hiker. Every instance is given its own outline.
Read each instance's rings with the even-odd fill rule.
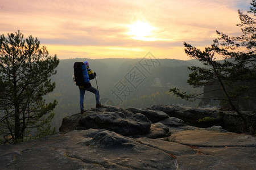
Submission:
[[[45,96],[46,101],[56,99],[55,117],[52,126],[59,129],[62,119],[80,112],[79,88],[73,82],[73,64],[88,61],[96,79],[90,80],[92,86],[100,91],[103,105],[122,108],[147,108],[152,105],[185,104],[197,107],[200,100],[191,103],[169,92],[170,88],[179,87],[187,92],[195,92],[187,84],[190,71],[188,66],[201,66],[196,60],[181,61],[177,59],[61,59],[57,74],[51,77],[56,88]],[[97,81],[97,83],[96,83]],[[198,89],[200,92],[202,89]],[[94,94],[85,92],[84,107],[95,107]]]

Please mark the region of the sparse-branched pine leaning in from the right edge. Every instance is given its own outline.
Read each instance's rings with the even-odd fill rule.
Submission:
[[[213,41],[213,44],[206,47],[202,52],[194,46],[184,42],[185,53],[189,57],[195,58],[203,62],[205,67],[192,66],[188,69],[192,71],[189,74],[187,82],[193,87],[204,87],[217,84],[220,88],[204,92],[220,92],[224,95],[222,103],[228,104],[230,109],[236,112],[243,121],[243,128],[248,130],[247,120],[240,111],[241,100],[251,100],[256,94],[256,54],[255,54],[255,37],[256,37],[256,3],[251,2],[251,8],[248,13],[253,16],[243,14],[240,10],[241,23],[237,26],[241,27],[241,36],[228,36],[217,31],[219,38]],[[224,60],[217,61],[216,55],[222,56]],[[181,92],[178,88],[170,89],[175,95],[186,99],[203,99],[203,94],[187,94]],[[250,94],[250,96],[245,95]]]

